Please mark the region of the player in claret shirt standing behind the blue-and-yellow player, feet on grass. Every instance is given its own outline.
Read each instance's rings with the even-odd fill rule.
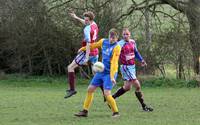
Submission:
[[[120,71],[124,79],[124,86],[118,89],[118,91],[113,95],[113,98],[116,99],[117,97],[123,95],[125,92],[129,91],[133,85],[135,87],[135,95],[141,103],[142,109],[144,111],[153,111],[153,108],[148,107],[144,103],[144,97],[141,92],[141,85],[136,77],[135,58],[141,62],[142,66],[147,64],[140,55],[135,41],[130,39],[130,37],[130,31],[128,28],[125,28],[123,30],[123,39],[118,42],[118,44],[121,46]]]

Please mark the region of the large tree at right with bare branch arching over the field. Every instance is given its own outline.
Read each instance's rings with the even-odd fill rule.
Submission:
[[[146,4],[148,2],[148,4]],[[132,5],[129,7],[128,12],[121,15],[125,17],[133,13],[135,10],[142,10],[146,5],[155,11],[158,5],[170,5],[174,9],[184,13],[189,23],[190,44],[192,46],[194,72],[200,74],[200,1],[199,0],[143,0],[138,3],[132,0]],[[156,11],[155,11],[156,12]],[[159,11],[161,12],[161,11]],[[164,12],[162,12],[164,13]],[[170,16],[170,15],[168,15]]]

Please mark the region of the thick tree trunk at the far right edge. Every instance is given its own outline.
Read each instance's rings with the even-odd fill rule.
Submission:
[[[190,44],[192,47],[194,72],[200,74],[200,2],[190,2],[187,10],[187,18],[190,25]]]

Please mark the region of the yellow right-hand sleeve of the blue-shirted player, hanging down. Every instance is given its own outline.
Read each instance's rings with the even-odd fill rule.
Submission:
[[[121,52],[120,45],[117,45],[113,50],[113,55],[111,58],[111,65],[110,65],[110,78],[114,79],[115,73],[117,73],[118,70],[118,61],[119,61],[119,55]]]

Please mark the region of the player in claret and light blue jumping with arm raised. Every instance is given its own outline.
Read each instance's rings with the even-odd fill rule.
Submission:
[[[91,11],[87,11],[83,14],[84,19],[79,18],[76,16],[74,12],[70,13],[71,17],[80,21],[82,24],[85,25],[83,29],[84,38],[82,40],[82,46],[86,46],[86,52],[80,52],[72,61],[71,64],[68,65],[68,83],[69,89],[66,90],[66,95],[64,98],[69,98],[72,95],[76,94],[75,90],[75,68],[78,66],[85,65],[88,61],[94,64],[98,61],[98,49],[94,49],[90,51],[90,44],[93,44],[97,40],[98,36],[98,26],[94,22],[94,14]]]

